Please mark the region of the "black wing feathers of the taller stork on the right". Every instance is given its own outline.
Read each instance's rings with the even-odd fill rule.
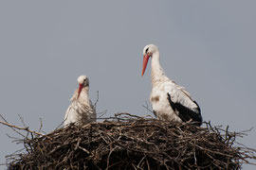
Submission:
[[[176,111],[176,110],[178,111],[177,116],[179,116],[180,119],[183,122],[188,122],[188,121],[190,121],[192,119],[193,122],[197,122],[197,124],[196,124],[197,126],[200,127],[202,125],[201,110],[200,110],[198,104],[195,101],[193,101],[193,102],[197,106],[198,113],[193,111],[193,110],[191,110],[191,109],[189,109],[189,108],[187,108],[187,107],[185,107],[185,106],[183,106],[180,103],[174,103],[172,101],[170,93],[167,93],[167,95],[168,95],[168,101],[170,103],[170,106],[172,107],[172,109],[174,111]]]

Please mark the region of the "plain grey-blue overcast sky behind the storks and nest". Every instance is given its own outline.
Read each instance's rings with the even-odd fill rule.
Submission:
[[[256,127],[256,1],[0,1],[0,114],[50,132],[64,120],[77,77],[90,79],[97,111],[150,114],[155,43],[167,76],[186,87],[205,121],[241,131]],[[149,65],[150,66],[150,65]],[[239,140],[256,148],[256,129]],[[22,148],[0,125],[0,162]],[[0,166],[0,169],[5,166]],[[245,169],[252,169],[245,166]]]

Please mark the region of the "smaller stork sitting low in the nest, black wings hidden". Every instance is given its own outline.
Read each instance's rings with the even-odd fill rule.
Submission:
[[[64,127],[71,123],[85,125],[96,121],[96,110],[89,98],[89,79],[87,76],[78,77],[79,88],[71,98],[71,104],[64,115]]]

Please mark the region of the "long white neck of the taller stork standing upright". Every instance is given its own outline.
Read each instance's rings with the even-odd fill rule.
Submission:
[[[151,77],[152,77],[152,84],[159,81],[168,80],[169,78],[165,76],[164,71],[160,65],[160,55],[159,51],[155,51],[155,53],[152,56],[151,61]]]

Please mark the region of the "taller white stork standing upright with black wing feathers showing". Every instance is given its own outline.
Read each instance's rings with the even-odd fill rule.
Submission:
[[[151,76],[152,92],[150,101],[155,116],[160,120],[176,122],[196,122],[201,126],[202,116],[198,104],[183,87],[165,76],[159,62],[159,50],[154,44],[143,49],[142,76],[147,67],[148,59],[152,58]]]

